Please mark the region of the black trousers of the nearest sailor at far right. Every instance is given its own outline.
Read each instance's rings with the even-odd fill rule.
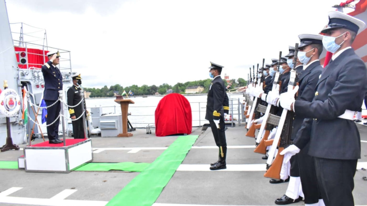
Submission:
[[[353,206],[353,177],[357,159],[315,157],[317,182],[326,206]]]

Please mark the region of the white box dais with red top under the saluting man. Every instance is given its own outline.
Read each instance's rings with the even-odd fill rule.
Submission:
[[[66,146],[48,141],[24,147],[18,158],[19,169],[26,172],[69,173],[84,163],[93,161],[91,139],[66,139]]]

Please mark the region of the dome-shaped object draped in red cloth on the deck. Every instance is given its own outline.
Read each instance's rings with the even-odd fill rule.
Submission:
[[[156,136],[191,134],[192,114],[189,101],[182,95],[171,93],[158,103],[155,112]]]

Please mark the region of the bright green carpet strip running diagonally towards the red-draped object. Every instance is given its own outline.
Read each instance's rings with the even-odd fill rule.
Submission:
[[[198,135],[179,136],[159,157],[130,181],[108,206],[152,206],[185,159]]]

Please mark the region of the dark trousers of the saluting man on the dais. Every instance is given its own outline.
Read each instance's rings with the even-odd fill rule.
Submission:
[[[54,100],[45,100],[47,106],[55,103]],[[61,104],[58,101],[54,106],[47,108],[47,121],[46,124],[49,125],[55,121],[55,119],[59,116],[61,110]],[[48,140],[54,140],[59,138],[59,123],[60,118],[56,120],[56,122],[47,127],[47,138]]]

